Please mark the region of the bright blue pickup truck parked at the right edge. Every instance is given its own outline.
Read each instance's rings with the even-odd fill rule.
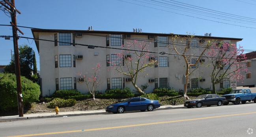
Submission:
[[[223,103],[224,105],[228,105],[229,102],[234,104],[245,104],[246,101],[254,101],[256,103],[256,93],[252,93],[250,89],[239,89],[239,90],[232,90],[227,95],[222,95],[222,97],[226,97],[228,102]]]

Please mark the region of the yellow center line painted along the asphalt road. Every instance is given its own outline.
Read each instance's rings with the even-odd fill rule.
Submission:
[[[232,115],[220,115],[220,116],[214,116],[214,117],[202,117],[202,118],[197,118],[197,119],[184,119],[184,120],[178,120],[178,121],[165,121],[165,122],[135,124],[135,125],[127,125],[127,126],[114,126],[114,127],[107,127],[107,128],[94,128],[94,129],[89,129],[89,130],[74,130],[74,131],[66,131],[66,132],[52,132],[52,133],[30,134],[30,135],[17,135],[17,136],[9,136],[9,137],[29,137],[29,136],[36,136],[36,135],[50,135],[50,134],[84,132],[84,131],[93,131],[93,130],[107,130],[107,129],[114,129],[114,128],[127,128],[127,127],[133,127],[133,126],[146,126],[146,125],[152,125],[152,124],[164,124],[164,123],[172,123],[172,122],[194,121],[194,120],[200,120],[200,119],[213,119],[213,118],[218,118],[218,117],[230,117],[230,116],[247,115],[247,114],[254,114],[254,113],[256,113],[256,112],[240,113],[240,114],[232,114]]]

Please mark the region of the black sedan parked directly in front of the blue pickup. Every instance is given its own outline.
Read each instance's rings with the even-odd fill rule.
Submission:
[[[220,97],[216,94],[205,94],[196,97],[196,99],[186,101],[184,106],[187,108],[191,108],[193,106],[196,106],[197,108],[211,105],[221,106],[221,104],[225,102],[227,102],[225,97]]]

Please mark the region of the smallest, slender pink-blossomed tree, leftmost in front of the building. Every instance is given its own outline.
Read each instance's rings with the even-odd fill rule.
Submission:
[[[84,81],[90,94],[92,95],[93,100],[95,100],[95,93],[97,86],[100,84],[100,80],[97,79],[97,75],[99,75],[99,69],[101,68],[100,64],[98,63],[95,68],[92,68],[92,73],[82,75],[82,73],[78,73],[80,76],[80,80]]]

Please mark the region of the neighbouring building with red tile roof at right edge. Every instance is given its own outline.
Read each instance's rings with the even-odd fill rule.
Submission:
[[[245,76],[244,80],[237,82],[237,86],[253,88],[256,86],[256,51],[245,53],[245,58],[247,60],[241,62],[246,62],[246,66],[249,71],[242,72],[242,74]]]

